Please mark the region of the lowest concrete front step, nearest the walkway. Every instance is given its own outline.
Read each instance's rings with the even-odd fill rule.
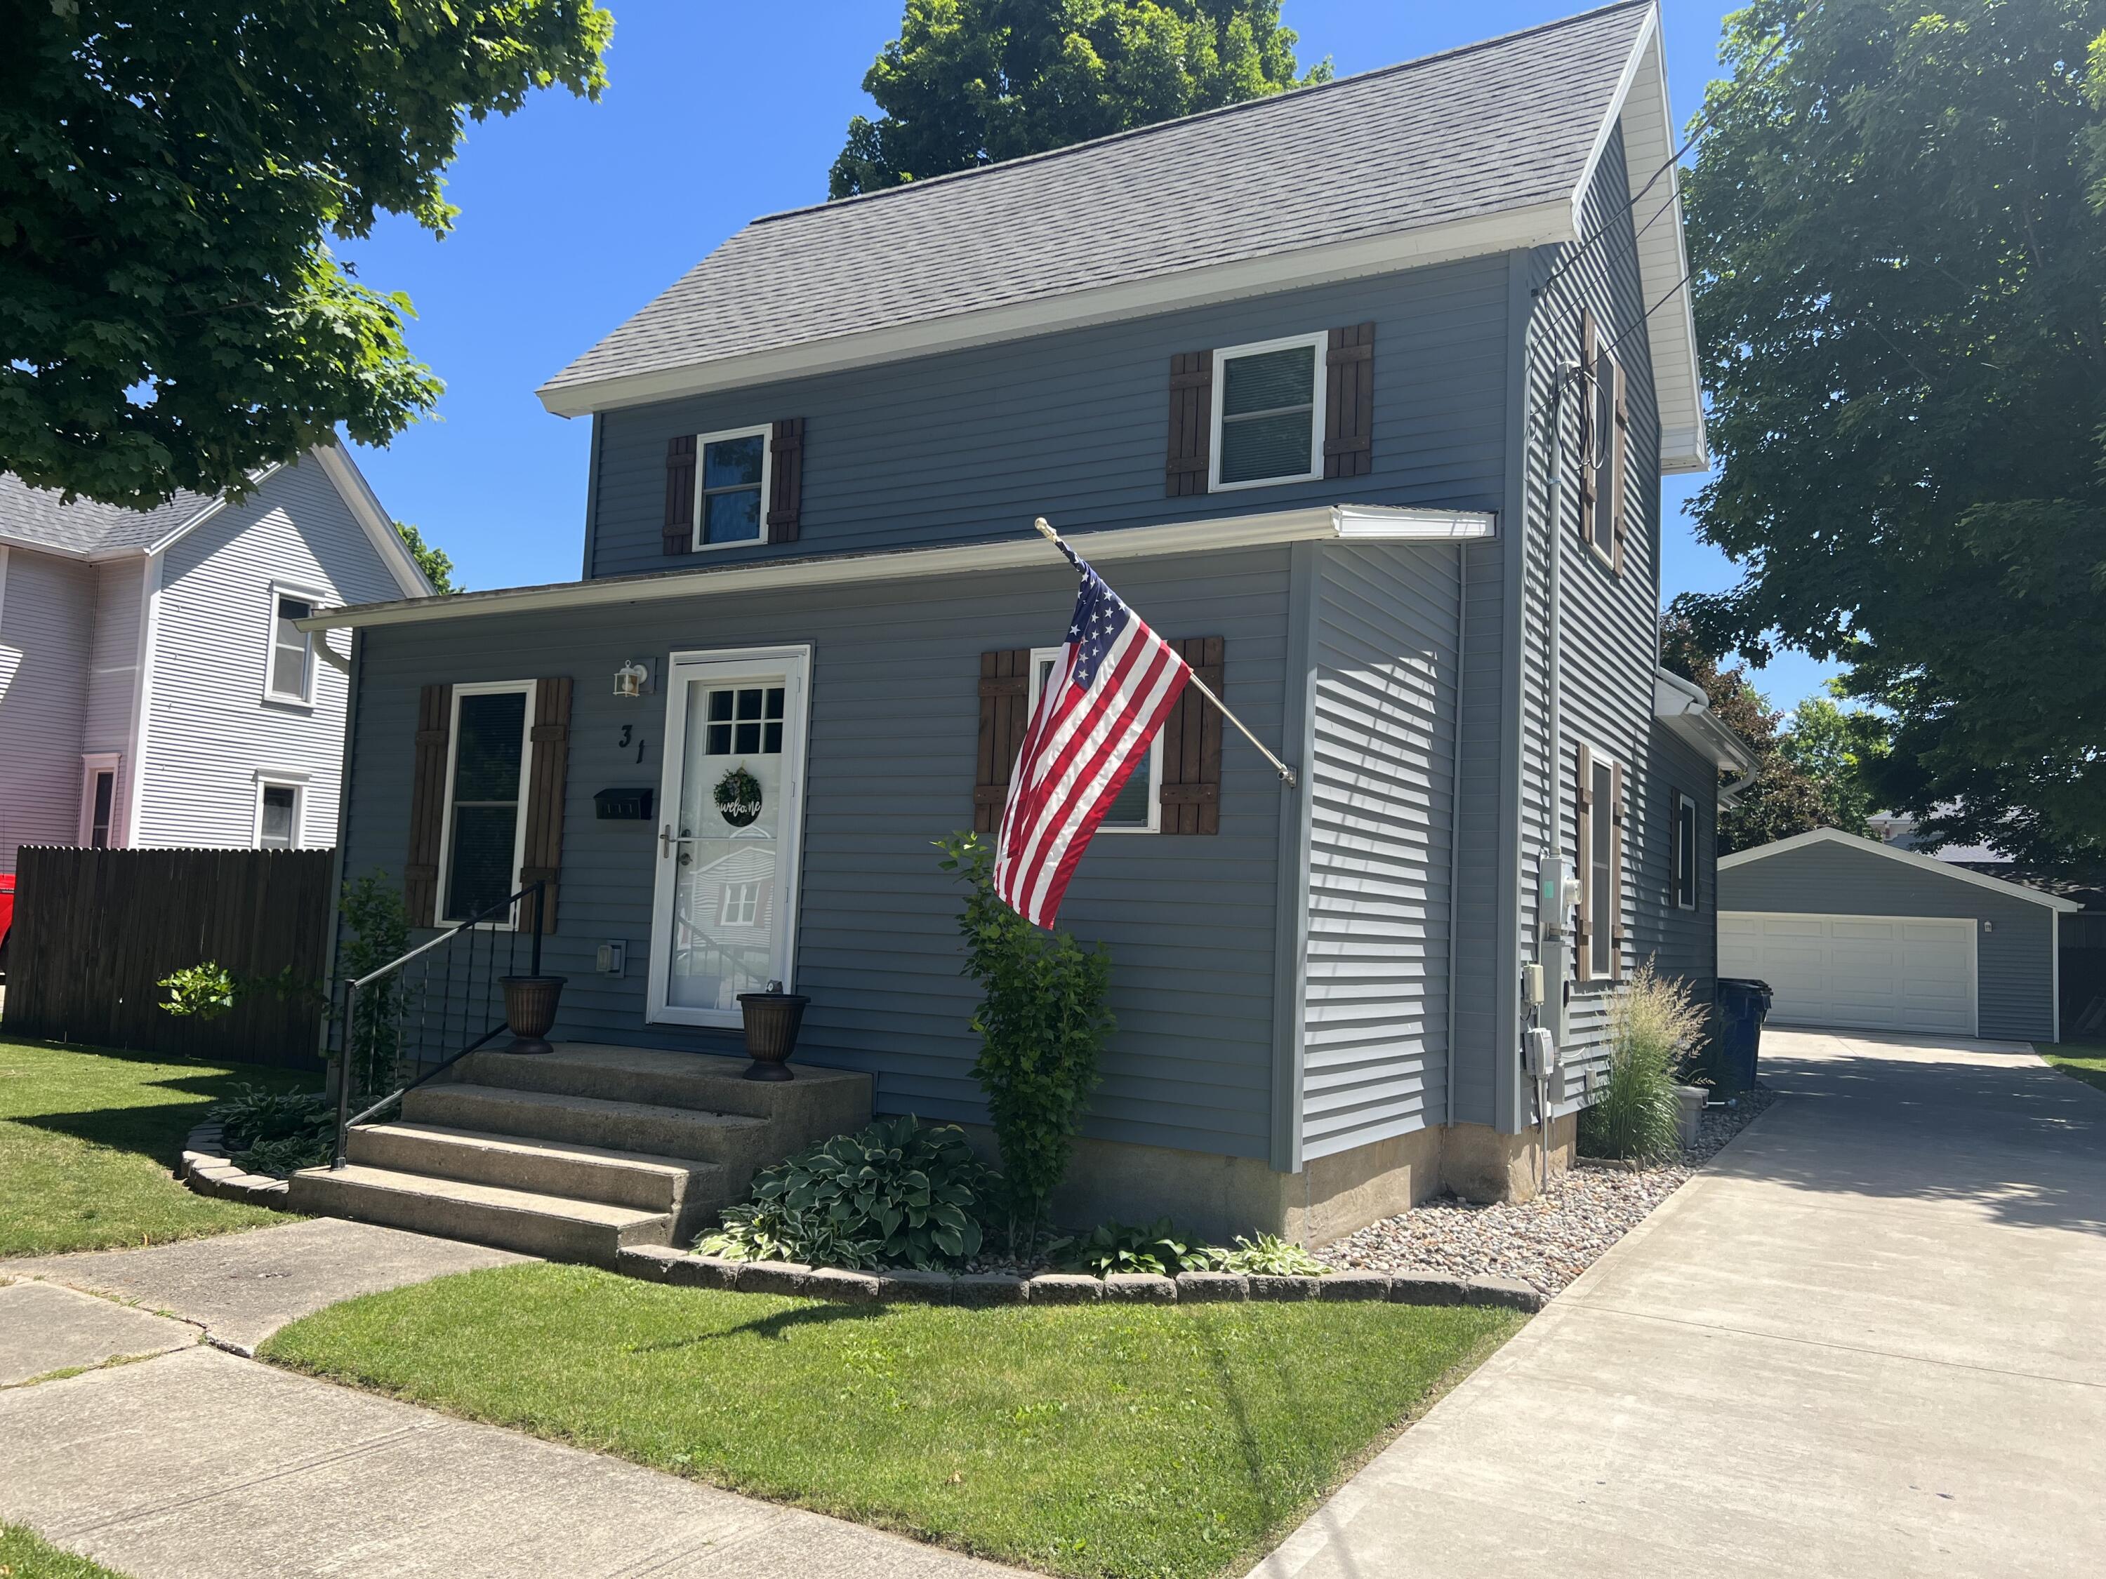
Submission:
[[[432,1179],[356,1162],[335,1171],[295,1173],[286,1206],[316,1217],[347,1217],[604,1267],[615,1265],[623,1246],[668,1244],[672,1234],[672,1213],[663,1211]]]

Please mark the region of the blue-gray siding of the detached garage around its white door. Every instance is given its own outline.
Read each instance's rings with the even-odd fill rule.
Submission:
[[[1832,916],[1971,916],[1982,1036],[2055,1034],[2053,912],[1874,851],[1820,842],[1718,874],[1718,910]],[[1990,931],[1982,931],[1982,924]]]

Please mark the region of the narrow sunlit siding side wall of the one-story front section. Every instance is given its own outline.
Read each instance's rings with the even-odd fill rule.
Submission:
[[[1316,560],[1304,1158],[1445,1122],[1459,554]]]

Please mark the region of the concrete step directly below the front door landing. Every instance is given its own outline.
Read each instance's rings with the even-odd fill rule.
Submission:
[[[545,1091],[503,1091],[470,1082],[417,1086],[402,1099],[402,1118],[411,1124],[480,1135],[720,1162],[737,1177],[739,1187],[754,1168],[779,1160],[790,1150],[764,1118]]]

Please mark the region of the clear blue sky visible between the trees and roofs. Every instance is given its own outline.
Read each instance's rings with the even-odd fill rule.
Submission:
[[[390,221],[343,248],[366,284],[411,295],[411,347],[446,381],[440,421],[360,453],[360,465],[474,587],[577,575],[588,425],[543,413],[535,385],[754,215],[826,198],[849,116],[870,109],[863,72],[901,13],[901,0],[609,4],[600,103],[543,93],[510,120],[470,126],[449,187],[461,217],[444,242]],[[1329,55],[1344,76],[1582,8],[1287,0],[1285,21],[1302,34],[1304,65]],[[1716,72],[1723,13],[1666,4],[1678,120]],[[1668,478],[1668,594],[1737,579],[1681,514],[1700,482]],[[1790,707],[1826,674],[1786,655],[1759,682]]]

